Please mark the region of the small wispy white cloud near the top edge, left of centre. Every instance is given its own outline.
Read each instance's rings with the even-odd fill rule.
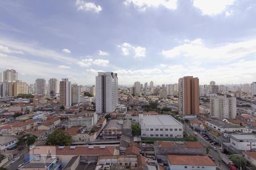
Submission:
[[[102,10],[100,5],[97,6],[93,2],[85,2],[84,0],[77,0],[76,6],[77,10],[83,10],[88,12],[99,13]]]

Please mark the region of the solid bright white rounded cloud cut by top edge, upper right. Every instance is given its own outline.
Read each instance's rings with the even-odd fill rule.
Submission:
[[[193,0],[193,6],[199,8],[202,15],[217,15],[228,10],[236,0]]]

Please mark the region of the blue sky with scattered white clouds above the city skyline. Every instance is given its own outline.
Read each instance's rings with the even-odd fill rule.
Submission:
[[[2,0],[0,71],[95,84],[256,81],[255,0]]]

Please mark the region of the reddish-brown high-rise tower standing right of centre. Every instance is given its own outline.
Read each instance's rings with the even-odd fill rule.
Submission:
[[[199,79],[184,76],[179,79],[179,113],[183,116],[199,114]]]

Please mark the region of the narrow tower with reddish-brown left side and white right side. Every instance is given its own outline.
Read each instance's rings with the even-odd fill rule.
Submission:
[[[64,107],[71,107],[71,82],[68,79],[60,81],[60,103]]]

